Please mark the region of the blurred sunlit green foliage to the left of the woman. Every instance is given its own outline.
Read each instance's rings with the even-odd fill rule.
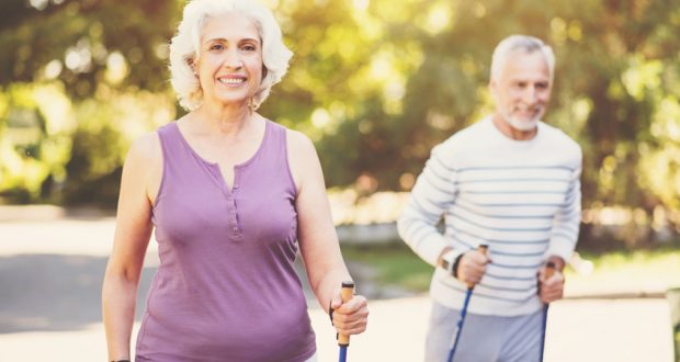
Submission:
[[[106,105],[139,89],[168,97],[167,42],[180,7],[133,0],[0,4],[0,195],[115,204],[116,176],[139,132],[120,129],[114,117],[123,112]]]

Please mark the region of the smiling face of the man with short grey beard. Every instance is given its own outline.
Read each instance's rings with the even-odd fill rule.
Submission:
[[[551,75],[540,52],[510,54],[490,83],[496,113],[512,128],[531,132],[545,113],[551,99]]]

